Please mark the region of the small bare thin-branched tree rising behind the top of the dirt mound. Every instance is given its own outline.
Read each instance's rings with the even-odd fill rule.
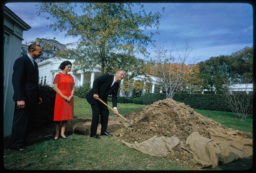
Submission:
[[[172,98],[176,92],[191,88],[193,82],[197,81],[197,64],[186,64],[195,60],[195,57],[189,60],[192,50],[187,42],[181,51],[177,49],[175,42],[171,48],[161,44],[154,45],[155,58],[149,65],[148,73],[158,77],[158,85],[166,93],[166,98]]]

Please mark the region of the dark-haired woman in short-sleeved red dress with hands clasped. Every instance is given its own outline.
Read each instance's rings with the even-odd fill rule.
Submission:
[[[60,64],[59,69],[62,70],[58,73],[53,81],[54,90],[56,91],[56,99],[54,106],[54,121],[56,126],[56,134],[54,139],[59,138],[59,127],[61,123],[61,137],[67,138],[65,136],[65,128],[67,121],[74,119],[74,91],[75,83],[74,78],[69,75],[72,63],[70,61],[64,61]]]

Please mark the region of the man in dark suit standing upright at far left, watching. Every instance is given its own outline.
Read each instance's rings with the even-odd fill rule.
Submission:
[[[30,132],[30,120],[35,116],[37,103],[41,104],[38,82],[39,71],[35,59],[42,55],[41,46],[31,44],[28,54],[15,60],[13,65],[13,101],[15,102],[10,148],[17,151],[26,149],[24,143]]]

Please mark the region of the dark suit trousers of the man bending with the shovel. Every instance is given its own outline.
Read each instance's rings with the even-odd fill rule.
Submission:
[[[106,132],[108,127],[108,117],[109,117],[108,107],[97,100],[96,103],[91,104],[91,109],[92,109],[93,117],[91,120],[90,136],[97,134],[99,117],[100,117],[100,125],[101,125],[100,133]]]

